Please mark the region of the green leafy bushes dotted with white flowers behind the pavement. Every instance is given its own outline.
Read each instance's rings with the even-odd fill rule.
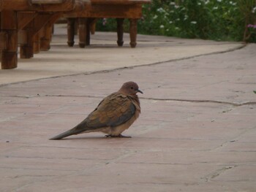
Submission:
[[[143,5],[138,33],[184,38],[256,42],[256,0],[152,0]],[[116,31],[108,19],[99,29]],[[124,23],[129,31],[129,22]]]

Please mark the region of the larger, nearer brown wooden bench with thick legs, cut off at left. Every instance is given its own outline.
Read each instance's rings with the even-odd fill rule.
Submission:
[[[83,7],[82,0],[0,0],[0,58],[1,69],[13,69],[18,65],[18,44],[20,58],[31,58],[34,42],[44,29],[45,45],[49,47],[49,34],[53,23],[63,12]],[[80,9],[79,9],[80,10]],[[44,42],[44,41],[42,41]]]

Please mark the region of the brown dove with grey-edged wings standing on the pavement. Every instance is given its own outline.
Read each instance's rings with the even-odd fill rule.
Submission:
[[[107,134],[106,137],[130,138],[121,133],[132,126],[140,115],[140,100],[137,93],[143,92],[136,82],[124,82],[117,92],[102,99],[96,109],[77,126],[50,140],[96,131]]]

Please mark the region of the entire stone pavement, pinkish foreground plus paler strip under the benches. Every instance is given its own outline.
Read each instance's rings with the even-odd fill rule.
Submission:
[[[57,35],[48,53],[1,70],[1,191],[256,191],[256,45],[99,37],[79,49]],[[128,80],[144,92],[131,139],[48,140]]]

